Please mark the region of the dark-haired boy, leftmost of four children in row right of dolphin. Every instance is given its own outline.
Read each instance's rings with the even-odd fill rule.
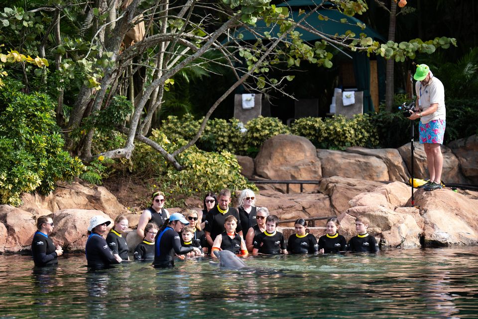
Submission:
[[[276,231],[279,217],[269,215],[265,220],[265,231],[254,237],[254,248],[252,255],[278,255],[287,254],[284,235]]]

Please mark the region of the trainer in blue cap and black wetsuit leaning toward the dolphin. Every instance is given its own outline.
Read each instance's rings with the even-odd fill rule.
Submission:
[[[194,251],[195,255],[201,255],[201,250],[197,247],[181,246],[179,233],[188,224],[180,213],[172,214],[167,223],[164,223],[156,237],[153,262],[155,268],[174,267],[174,254],[185,255]],[[184,259],[184,256],[181,259]]]

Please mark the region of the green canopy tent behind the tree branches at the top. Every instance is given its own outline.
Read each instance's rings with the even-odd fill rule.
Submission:
[[[318,4],[323,3],[323,1],[316,1]],[[290,0],[285,3],[278,4],[277,6],[284,6],[289,8],[289,17],[294,21],[299,21],[304,16],[304,13],[300,14],[299,9],[305,10],[307,13],[311,7],[317,5],[314,1],[311,0]],[[330,2],[324,2],[327,4]],[[332,6],[332,3],[331,3]],[[319,18],[321,16],[322,18]],[[334,8],[321,8],[309,15],[304,21],[301,22],[301,25],[309,28],[313,28],[318,32],[310,32],[308,30],[297,27],[296,30],[299,31],[302,35],[301,38],[304,41],[312,42],[323,39],[323,35],[342,35],[345,34],[348,30],[354,32],[357,36],[360,33],[365,33],[367,36],[385,41],[384,38],[378,34],[376,31],[371,29],[369,26],[365,25],[362,21],[354,16],[348,16],[337,9]],[[364,26],[364,28],[360,27]],[[270,24],[267,26],[263,20],[257,21],[254,27],[250,28],[254,33],[263,36],[265,32],[268,32],[271,36],[276,36],[279,32],[279,27],[275,24]],[[256,40],[257,36],[245,27],[241,27],[237,30],[234,35],[234,38],[238,38],[241,34],[242,41]],[[332,46],[336,47],[339,51],[353,59],[354,64],[354,75],[356,79],[357,89],[363,91],[363,112],[374,112],[373,102],[370,96],[370,64],[369,58],[366,53],[360,52],[345,52],[344,49],[338,48],[334,44],[330,43]]]

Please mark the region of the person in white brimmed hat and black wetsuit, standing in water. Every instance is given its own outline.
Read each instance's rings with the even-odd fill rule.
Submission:
[[[102,269],[113,264],[119,264],[121,259],[115,258],[103,234],[108,230],[111,224],[109,218],[97,215],[90,219],[88,233],[90,236],[86,241],[85,255],[88,267],[92,269]]]

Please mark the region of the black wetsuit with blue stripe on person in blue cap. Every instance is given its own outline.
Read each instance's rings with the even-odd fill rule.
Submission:
[[[193,247],[182,247],[179,234],[167,226],[156,236],[153,265],[155,268],[174,267],[175,253],[184,255],[193,250]]]

